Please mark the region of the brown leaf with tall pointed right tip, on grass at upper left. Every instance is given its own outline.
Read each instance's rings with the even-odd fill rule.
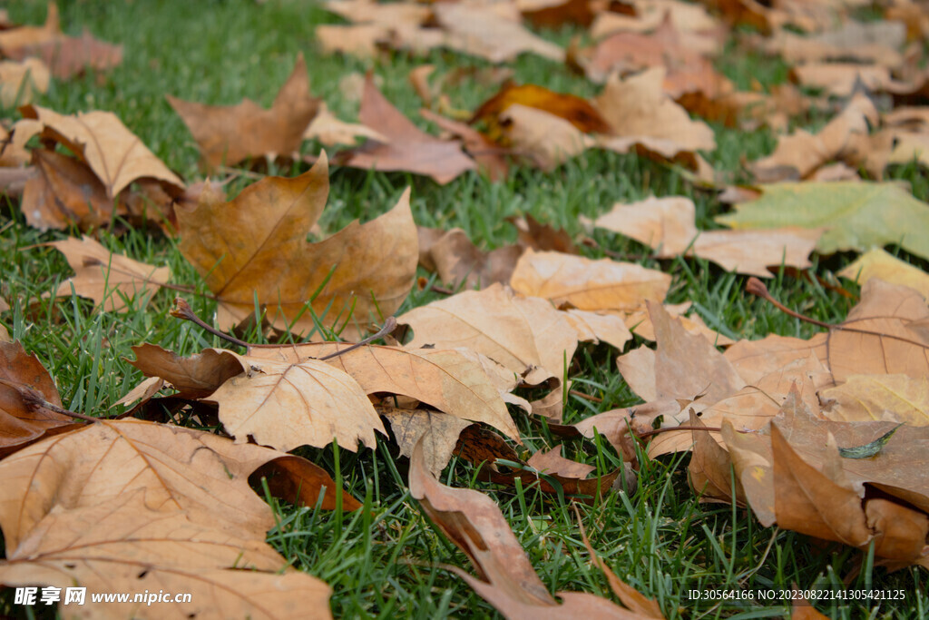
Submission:
[[[234,106],[211,106],[166,97],[197,140],[203,163],[210,168],[250,158],[291,156],[320,105],[309,94],[303,54],[297,55],[294,71],[269,110],[251,99]]]

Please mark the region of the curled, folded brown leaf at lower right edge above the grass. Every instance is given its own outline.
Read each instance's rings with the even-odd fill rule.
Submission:
[[[769,435],[738,433],[724,422],[723,436],[765,526],[777,521],[859,548],[873,538],[877,557],[906,564],[929,553],[929,481],[921,447],[929,429],[903,426],[870,458],[845,458],[838,450],[869,445],[895,426],[821,420],[792,398]],[[865,484],[885,495],[866,497]]]

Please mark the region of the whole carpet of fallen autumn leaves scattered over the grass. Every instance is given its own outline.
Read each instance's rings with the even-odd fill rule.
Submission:
[[[622,607],[591,593],[553,596],[488,495],[438,482],[453,456],[496,488],[535,486],[583,504],[634,488],[644,459],[690,452],[688,478],[703,501],[749,507],[765,527],[855,547],[888,570],[929,568],[929,275],[883,250],[896,244],[916,264],[929,260],[929,205],[884,180],[888,166],[929,164],[929,108],[920,105],[929,96],[921,65],[929,20],[925,7],[902,0],[884,3],[884,19],[871,22],[854,18],[865,4],[855,0],[770,4],[327,2],[349,23],[317,29],[324,54],[441,47],[504,63],[529,53],[565,63],[600,92],[585,99],[504,81],[462,110],[445,92],[454,76],[430,82],[435,68],[419,66],[410,79],[439,136],[386,99],[373,72],[357,85],[358,123],[338,119],[311,94],[302,55],[269,109],[169,95],[204,172],[257,178],[231,197],[225,180],[182,178],[112,112],[30,102],[49,74],[104,72],[121,48],[64,35],[54,5],[44,26],[0,32],[10,67],[0,66],[0,95],[21,104],[3,125],[0,181],[17,218],[73,233],[49,237],[74,275],[48,295],[127,312],[181,293],[172,315],[229,345],[185,356],[140,339],[131,363],[146,378],[111,410],[82,414],[64,406],[43,361],[4,327],[0,584],[192,591],[175,611],[198,617],[328,615],[329,588],[268,546],[274,513],[254,489],[361,509],[329,473],[291,453],[373,449],[378,437],[410,459],[410,494],[475,574],[450,570],[507,617],[677,610],[623,583],[589,544]],[[530,30],[566,23],[586,29],[566,48]],[[738,90],[717,73],[739,24],[753,31],[730,45],[779,55],[791,84]],[[813,110],[828,119],[816,133],[790,131]],[[707,161],[716,149],[710,123],[782,133],[770,155],[733,175]],[[588,150],[670,167],[718,204],[734,204],[715,219],[727,228],[701,231],[686,196],[650,197],[582,222],[584,235],[527,214],[507,224],[515,244],[485,251],[461,229],[417,226],[410,188],[364,224],[328,236],[319,224],[333,202],[330,167],[444,185],[463,175],[512,180],[526,168],[554,177]],[[263,174],[280,165],[302,172]],[[102,231],[129,230],[174,244],[201,282],[177,282],[168,267],[98,241]],[[611,254],[609,235],[641,244],[653,266],[705,260],[752,276],[739,295],[821,331],[726,336],[689,303],[668,302],[667,270]],[[608,257],[589,257],[592,249]],[[839,275],[863,284],[842,323],[782,305],[760,280],[816,281],[811,257],[838,252],[860,253]],[[431,282],[417,279],[427,272]],[[838,281],[819,284],[855,297]],[[424,287],[443,297],[399,313]],[[183,298],[201,293],[216,308],[205,320]],[[569,369],[582,364],[582,343],[618,353],[617,371],[642,403],[569,423],[566,398],[579,394]],[[527,454],[520,446],[532,425],[566,442],[605,439],[622,466],[598,471],[562,456],[560,445]],[[580,512],[578,520],[586,543]],[[98,613],[145,608],[108,603]]]

